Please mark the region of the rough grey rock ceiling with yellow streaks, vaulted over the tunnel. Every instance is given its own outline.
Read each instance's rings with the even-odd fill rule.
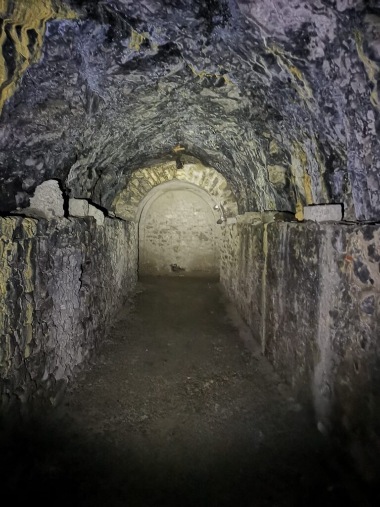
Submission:
[[[377,0],[0,0],[0,11],[0,210],[48,178],[109,207],[134,169],[180,144],[178,157],[225,176],[242,211],[344,202],[348,219],[380,218]]]

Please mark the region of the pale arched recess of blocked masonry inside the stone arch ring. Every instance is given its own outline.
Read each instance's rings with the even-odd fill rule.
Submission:
[[[220,214],[212,197],[192,184],[172,181],[155,187],[144,201],[139,276],[218,277]]]

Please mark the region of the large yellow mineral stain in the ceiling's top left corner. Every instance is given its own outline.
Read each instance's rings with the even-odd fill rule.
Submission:
[[[46,23],[51,19],[75,19],[77,15],[60,0],[0,0],[0,48],[8,37],[15,45],[15,70],[8,75],[8,68],[0,50],[0,113],[5,101],[16,91],[17,84],[26,68],[41,58]],[[20,27],[20,34],[16,26]],[[29,50],[28,30],[34,30],[36,40]]]

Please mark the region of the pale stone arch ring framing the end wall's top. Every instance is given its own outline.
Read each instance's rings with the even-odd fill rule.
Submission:
[[[146,194],[163,183],[175,180],[207,192],[219,206],[223,218],[238,214],[235,196],[224,176],[201,163],[185,163],[178,168],[174,160],[134,171],[128,185],[113,200],[111,211],[123,220],[136,222],[139,205]]]

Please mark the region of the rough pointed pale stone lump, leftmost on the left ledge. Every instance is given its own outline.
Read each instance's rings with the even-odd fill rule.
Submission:
[[[34,218],[47,220],[57,219],[64,216],[63,194],[55,179],[48,179],[35,188],[30,205],[23,209],[22,213]]]

